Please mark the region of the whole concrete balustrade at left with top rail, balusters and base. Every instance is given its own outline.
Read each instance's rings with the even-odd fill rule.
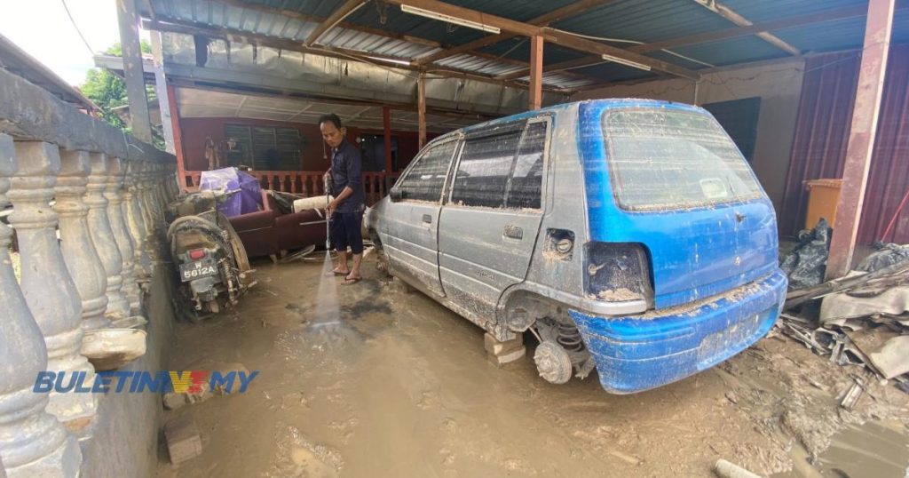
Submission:
[[[0,210],[13,205],[21,258],[17,278],[13,229],[0,222],[0,477],[115,476],[107,472],[128,463],[107,456],[138,450],[124,433],[152,432],[140,442],[154,443],[154,397],[73,388],[100,381],[81,353],[85,332],[130,317],[124,288],[135,308],[135,278],[152,277],[149,248],[162,243],[172,188],[159,175],[174,165],[173,155],[0,68]],[[152,287],[162,317],[149,318],[156,341],[136,366],[156,371],[172,291],[166,280]],[[68,392],[36,391],[41,372]]]

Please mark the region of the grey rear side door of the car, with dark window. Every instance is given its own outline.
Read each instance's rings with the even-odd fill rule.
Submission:
[[[502,292],[524,280],[543,217],[549,117],[464,138],[439,219],[445,295],[485,319]]]

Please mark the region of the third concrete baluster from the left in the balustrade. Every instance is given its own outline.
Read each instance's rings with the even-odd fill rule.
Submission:
[[[82,299],[82,330],[104,329],[110,327],[110,319],[105,317],[107,275],[88,229],[88,206],[83,200],[90,159],[85,151],[63,151],[60,161],[60,176],[54,188],[54,209],[60,216],[60,249]]]

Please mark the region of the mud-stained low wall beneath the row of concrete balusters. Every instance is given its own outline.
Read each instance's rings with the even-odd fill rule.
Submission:
[[[122,371],[169,370],[174,343],[174,314],[171,310],[173,271],[155,268],[150,294],[145,298],[148,332],[145,355],[121,368]],[[163,423],[161,394],[153,392],[109,392],[98,402],[91,438],[82,440],[82,476],[100,478],[152,476],[158,460],[158,431]],[[166,456],[166,452],[165,452]]]

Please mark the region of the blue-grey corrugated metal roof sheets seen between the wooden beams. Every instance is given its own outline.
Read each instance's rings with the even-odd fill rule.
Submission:
[[[571,0],[445,1],[519,21],[531,20],[572,3]],[[284,9],[305,15],[325,17],[343,5],[344,0],[244,0],[244,2],[249,5],[272,7],[275,8],[275,11]],[[215,0],[150,0],[150,3],[157,15],[299,42],[304,41],[316,26],[314,22],[302,21],[287,15],[225,5]],[[724,0],[723,3],[752,22],[810,15],[836,8],[867,4],[866,0],[762,0],[760,2]],[[489,35],[464,26],[448,25],[421,16],[408,15],[401,12],[397,6],[378,1],[368,2],[360,7],[349,15],[345,22],[454,46]],[[703,5],[698,5],[694,0],[615,0],[579,15],[563,18],[552,26],[584,36],[651,43],[724,30],[734,27],[734,24]],[[851,49],[862,44],[864,18],[857,17],[837,22],[805,25],[774,32],[774,35],[804,52]],[[896,14],[894,42],[906,41],[909,41],[909,11],[903,9]],[[344,27],[335,27],[320,39],[320,43],[326,46],[406,60],[431,55],[438,51],[437,47],[425,45],[425,42],[388,38]],[[527,43],[526,38],[514,38],[480,50],[487,55],[501,56],[503,61],[463,54],[444,58],[438,61],[437,65],[479,75],[506,75],[519,69],[514,66],[514,61],[526,62],[528,60]],[[610,45],[630,46],[628,43],[610,43]],[[690,69],[703,68],[706,65],[728,66],[789,55],[757,36],[680,46],[674,48],[673,51],[683,56],[689,56],[691,60],[660,51],[647,55]],[[546,65],[583,56],[585,56],[583,53],[549,44],[545,46],[544,50]],[[654,73],[647,74],[629,66],[605,64],[574,69],[570,74],[547,75],[544,76],[544,84],[556,87],[584,86],[591,84],[593,80],[584,80],[579,75],[591,76],[596,80],[608,82],[639,78]]]

